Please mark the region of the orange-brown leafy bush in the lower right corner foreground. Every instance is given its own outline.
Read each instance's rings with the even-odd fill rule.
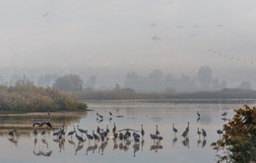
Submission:
[[[218,162],[252,162],[256,161],[256,107],[235,110],[231,121],[224,125],[222,139],[212,146],[224,155],[217,154]]]

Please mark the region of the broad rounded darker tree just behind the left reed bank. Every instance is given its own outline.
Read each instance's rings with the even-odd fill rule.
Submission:
[[[66,75],[55,80],[53,87],[64,91],[80,91],[84,81],[77,75]]]

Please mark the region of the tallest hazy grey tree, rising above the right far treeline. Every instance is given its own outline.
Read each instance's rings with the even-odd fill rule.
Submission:
[[[209,89],[212,81],[212,70],[208,66],[202,66],[197,72],[198,81],[203,89]]]

